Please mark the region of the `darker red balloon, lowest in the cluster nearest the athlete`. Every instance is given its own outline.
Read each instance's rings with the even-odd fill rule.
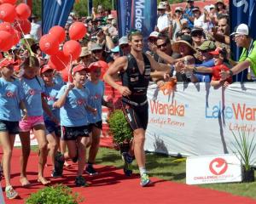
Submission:
[[[66,69],[69,62],[69,57],[65,56],[65,54],[60,50],[57,54],[50,56],[48,65],[56,71],[61,71]]]

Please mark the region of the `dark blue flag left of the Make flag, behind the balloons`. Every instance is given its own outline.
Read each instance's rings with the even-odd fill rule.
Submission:
[[[73,8],[74,0],[43,0],[42,27],[43,34],[48,33],[52,26],[64,27],[68,15]]]

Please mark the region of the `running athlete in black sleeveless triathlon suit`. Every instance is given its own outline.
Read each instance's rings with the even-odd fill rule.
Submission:
[[[129,153],[124,153],[125,163],[131,163],[134,155],[141,174],[141,185],[150,184],[145,163],[145,131],[148,126],[147,89],[151,70],[162,71],[166,67],[160,65],[148,54],[143,53],[143,34],[141,31],[131,31],[128,35],[131,53],[116,59],[104,76],[105,82],[122,94],[122,109],[129,122],[134,139]],[[120,72],[122,85],[113,80]]]

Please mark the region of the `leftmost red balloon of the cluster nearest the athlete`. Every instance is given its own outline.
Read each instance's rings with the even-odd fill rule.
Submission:
[[[57,38],[50,34],[44,35],[39,41],[39,47],[45,54],[52,55],[58,53],[59,46],[60,43]]]

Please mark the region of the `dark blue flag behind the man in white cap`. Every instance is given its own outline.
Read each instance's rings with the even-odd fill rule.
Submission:
[[[253,20],[256,19],[256,0],[230,0],[230,31],[235,31],[236,26],[241,23],[250,28],[250,37],[256,39],[256,26],[253,26]],[[231,42],[231,54],[233,59],[238,60],[241,54],[241,48],[237,48],[236,42]],[[233,77],[235,82],[247,81],[247,69]]]

